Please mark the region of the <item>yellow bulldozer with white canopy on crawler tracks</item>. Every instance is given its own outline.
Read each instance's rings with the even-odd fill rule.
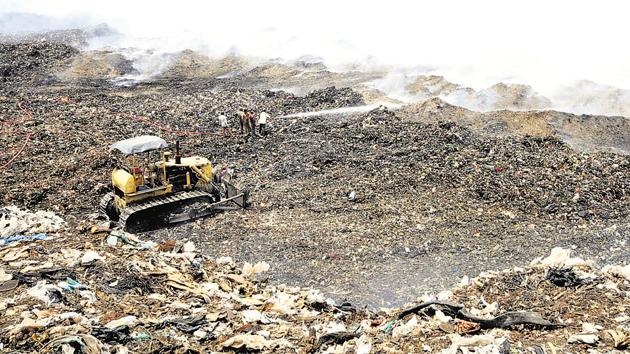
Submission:
[[[167,147],[152,135],[110,145],[124,162],[112,171],[112,191],[101,199],[102,213],[128,232],[142,232],[249,206],[249,193],[231,183],[229,171],[216,173],[205,157],[182,157],[179,141],[174,155]],[[142,162],[156,153],[159,161]]]

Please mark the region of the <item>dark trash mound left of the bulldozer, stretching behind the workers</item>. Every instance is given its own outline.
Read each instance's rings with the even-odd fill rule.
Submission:
[[[231,124],[236,127],[238,123],[233,112],[239,107],[255,107],[276,116],[304,109],[363,104],[356,92],[334,87],[315,90],[304,97],[286,92],[234,89],[216,93],[204,91],[203,94],[151,94],[138,99],[125,96],[126,90],[121,92],[111,95],[29,96],[28,103],[0,95],[0,144],[11,147],[10,150],[0,151],[3,163],[16,154],[24,145],[25,135],[29,134],[23,155],[8,171],[4,171],[8,174],[5,175],[7,178],[0,180],[0,200],[28,207],[44,202],[48,204],[46,207],[56,210],[88,208],[94,211],[93,201],[101,192],[94,187],[109,180],[107,174],[114,166],[107,150],[112,142],[142,134],[157,134],[172,139],[177,135],[169,132],[192,130],[201,132],[205,139],[216,140],[216,116],[227,112]],[[160,130],[151,123],[168,131]],[[179,139],[185,141],[190,137],[179,136]],[[240,139],[234,143],[246,142]],[[194,151],[191,145],[187,145],[186,149]],[[211,152],[206,156],[216,154]],[[19,177],[25,174],[31,178]],[[72,187],[67,188],[68,185]],[[61,198],[60,194],[65,197]],[[47,203],[47,199],[51,203]]]

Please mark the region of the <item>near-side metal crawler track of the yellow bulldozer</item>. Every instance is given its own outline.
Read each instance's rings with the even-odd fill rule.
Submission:
[[[175,208],[182,204],[185,204],[186,202],[192,202],[195,201],[195,199],[202,200],[206,198],[212,200],[212,194],[201,191],[180,192],[176,195],[132,205],[125,208],[120,214],[118,224],[123,229],[129,232],[138,232],[144,231],[145,229],[166,226],[168,224],[168,221],[164,218],[160,218],[160,215],[168,214],[167,212],[173,211]],[[144,218],[135,220],[133,224],[129,224],[129,218],[133,219],[133,217],[142,216],[142,214],[146,214],[150,210],[154,210],[154,213],[151,214],[151,216],[153,217],[152,219],[148,218],[146,220],[148,224],[138,224],[139,221],[145,221]]]

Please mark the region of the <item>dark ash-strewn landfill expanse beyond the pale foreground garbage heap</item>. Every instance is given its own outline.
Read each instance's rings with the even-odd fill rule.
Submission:
[[[122,87],[116,78],[133,66],[116,53],[0,44],[0,201],[51,209],[75,225],[92,220],[114,166],[107,146],[155,134],[233,167],[253,206],[143,238],[265,260],[270,281],[337,300],[400,305],[464,275],[528,264],[553,246],[627,262],[627,118],[477,113],[437,98],[283,118],[384,97],[361,86],[372,74],[242,70],[237,59],[187,52],[162,75]],[[308,93],[278,90],[284,80]],[[233,116],[234,136],[218,133],[218,113],[240,106],[271,113],[266,138],[240,136]]]

